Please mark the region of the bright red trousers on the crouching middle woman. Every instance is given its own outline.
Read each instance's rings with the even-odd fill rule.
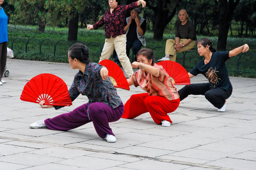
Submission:
[[[169,101],[165,97],[149,96],[147,93],[134,94],[125,103],[122,118],[135,118],[149,112],[156,124],[160,124],[162,120],[172,123],[167,113],[175,111],[179,104],[180,99]]]

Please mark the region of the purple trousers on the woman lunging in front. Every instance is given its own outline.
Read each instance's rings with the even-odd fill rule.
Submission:
[[[119,120],[124,113],[124,104],[113,109],[104,103],[92,103],[89,106],[90,119],[87,114],[88,103],[79,106],[69,113],[63,113],[54,118],[44,120],[45,125],[52,130],[68,131],[81,125],[93,122],[94,128],[100,138],[106,138],[107,134],[114,135],[109,122]]]

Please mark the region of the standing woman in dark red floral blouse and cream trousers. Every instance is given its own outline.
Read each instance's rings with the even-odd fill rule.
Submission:
[[[87,25],[87,29],[99,29],[102,25],[105,25],[105,44],[102,49],[101,60],[109,59],[113,51],[116,50],[118,59],[120,60],[122,67],[128,77],[132,76],[132,66],[129,58],[126,55],[126,35],[124,31],[125,27],[125,15],[129,10],[137,8],[142,5],[144,8],[146,2],[139,0],[128,5],[118,5],[120,0],[109,0],[109,9],[105,11],[103,17],[93,25]]]

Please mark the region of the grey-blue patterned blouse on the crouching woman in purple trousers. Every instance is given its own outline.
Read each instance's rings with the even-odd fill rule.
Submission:
[[[111,108],[117,108],[122,104],[122,100],[118,96],[116,89],[109,80],[102,80],[100,76],[100,69],[102,66],[95,62],[86,64],[84,74],[79,71],[74,81],[68,90],[70,98],[74,101],[79,94],[87,96],[89,99],[88,106],[91,103],[105,103]],[[55,106],[58,109],[61,107]],[[89,112],[87,111],[88,115]]]

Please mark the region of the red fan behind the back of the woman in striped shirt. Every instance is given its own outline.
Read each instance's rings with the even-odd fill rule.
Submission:
[[[157,64],[163,66],[169,76],[173,78],[175,85],[190,85],[188,72],[178,62],[163,60]]]

